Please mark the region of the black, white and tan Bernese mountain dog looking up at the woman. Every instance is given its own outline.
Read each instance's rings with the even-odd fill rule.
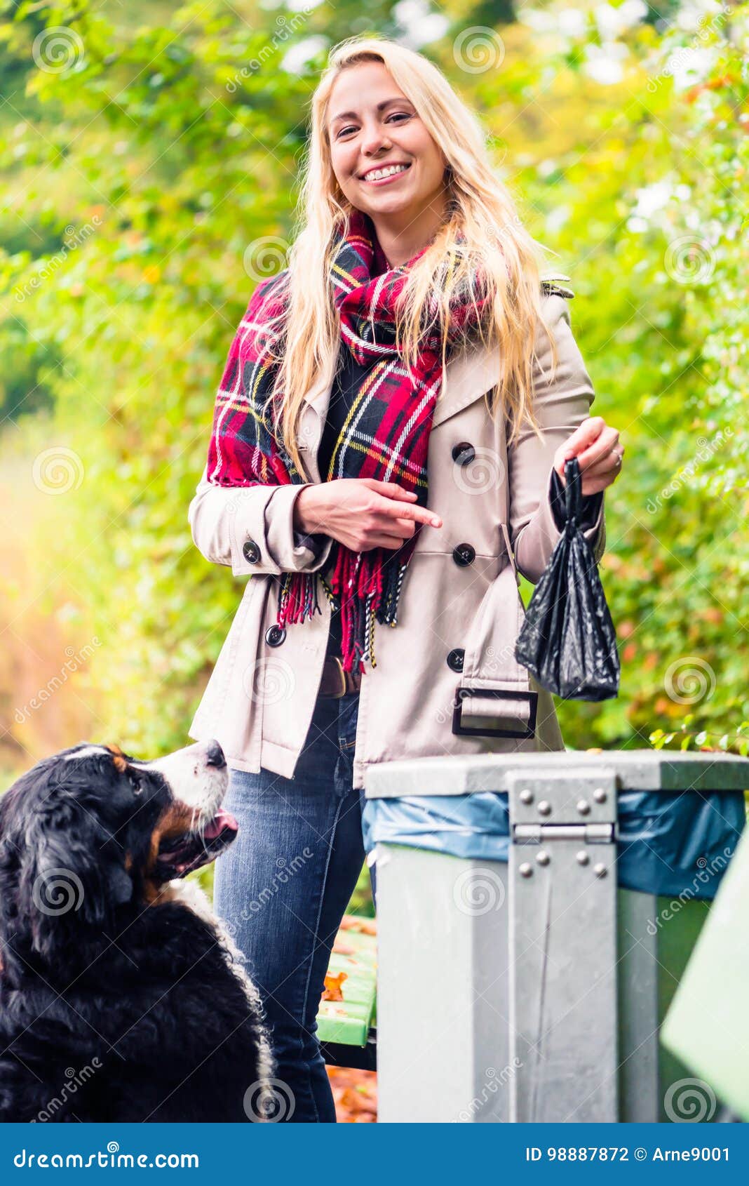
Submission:
[[[0,1121],[267,1118],[256,988],[194,881],[237,834],[217,741],[82,742],[0,799]]]

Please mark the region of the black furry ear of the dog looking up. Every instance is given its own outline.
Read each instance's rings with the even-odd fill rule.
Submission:
[[[114,910],[130,900],[133,882],[116,839],[58,786],[28,821],[19,890],[31,948],[51,961],[60,944],[84,943],[85,927],[95,939],[111,933]]]

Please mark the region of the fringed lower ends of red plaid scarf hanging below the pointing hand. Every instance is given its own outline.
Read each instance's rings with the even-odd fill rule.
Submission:
[[[318,601],[316,578],[320,576],[331,607],[340,610],[344,671],[353,671],[356,664],[357,671],[364,672],[365,661],[372,668],[377,667],[375,623],[388,626],[398,624],[398,601],[408,559],[399,555],[396,561],[392,551],[379,548],[353,553],[339,547],[337,553],[329,584],[319,573],[283,574],[276,625],[286,629],[322,612]]]

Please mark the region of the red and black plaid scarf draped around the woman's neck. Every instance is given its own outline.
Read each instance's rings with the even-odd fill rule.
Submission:
[[[425,250],[390,270],[371,219],[353,211],[347,230],[337,240],[329,275],[341,339],[358,363],[373,364],[354,395],[338,438],[337,477],[397,482],[417,492],[420,506],[427,505],[429,431],[442,385],[442,330],[433,314],[435,325],[423,334],[411,380],[395,349],[395,327],[396,302],[408,281],[409,268]],[[454,261],[448,257],[443,279],[452,267]],[[307,480],[263,419],[263,406],[277,372],[277,365],[269,359],[264,321],[267,317],[283,314],[287,276],[284,269],[255,291],[231,345],[216,397],[209,448],[207,478],[216,485]],[[268,304],[261,313],[263,299]],[[448,356],[459,340],[473,333],[482,310],[482,299],[463,296],[453,301]],[[273,398],[281,401],[281,393],[276,391]],[[421,524],[416,524],[414,535],[398,549],[354,553],[334,541],[326,566],[327,579],[321,573],[320,578],[332,607],[340,610],[345,670],[351,671],[358,664],[357,670],[364,671],[365,657],[372,667],[377,665],[375,621],[397,624],[401,588],[420,529]],[[281,574],[276,619],[281,629],[320,612],[316,576],[316,572]]]

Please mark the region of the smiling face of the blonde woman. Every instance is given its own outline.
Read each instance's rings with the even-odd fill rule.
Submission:
[[[447,161],[382,62],[360,62],[333,84],[326,125],[335,179],[375,224],[406,227],[430,208],[441,212]],[[399,166],[395,171],[388,166]],[[390,176],[377,177],[383,168]]]

